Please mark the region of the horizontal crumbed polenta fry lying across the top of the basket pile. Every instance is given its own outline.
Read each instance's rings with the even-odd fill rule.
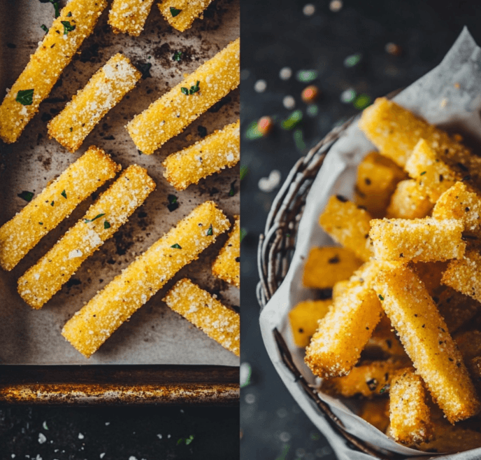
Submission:
[[[373,219],[369,236],[379,260],[431,262],[464,256],[463,229],[456,219]]]

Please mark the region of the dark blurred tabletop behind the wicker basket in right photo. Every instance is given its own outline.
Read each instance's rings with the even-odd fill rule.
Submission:
[[[310,16],[303,14],[308,3],[315,6]],[[252,384],[241,390],[242,459],[336,458],[285,389],[261,340],[255,295],[257,242],[280,185],[265,193],[259,179],[278,169],[282,184],[298,158],[335,125],[359,113],[353,102],[340,101],[345,90],[352,88],[372,102],[409,85],[436,67],[464,25],[481,43],[480,4],[451,3],[344,0],[343,7],[333,12],[330,1],[242,1],[241,164],[248,169],[241,186],[241,227],[247,232],[241,245],[241,362],[252,368]],[[387,53],[387,43],[399,46],[401,54]],[[346,67],[345,58],[356,53],[361,53],[359,63]],[[292,69],[287,81],[279,77],[283,67]],[[301,83],[296,79],[299,70],[315,70],[318,77]],[[261,93],[254,90],[259,79],[266,81]],[[308,116],[308,106],[301,101],[308,84],[322,91],[317,116]],[[303,112],[297,142],[295,130],[280,127],[292,113],[282,105],[286,95],[294,97],[295,109]],[[247,139],[247,127],[261,116],[276,118],[273,132],[263,139]]]

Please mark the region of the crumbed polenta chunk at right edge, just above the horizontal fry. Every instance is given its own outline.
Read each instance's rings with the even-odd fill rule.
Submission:
[[[468,190],[465,183],[457,182],[443,193],[433,209],[433,218],[458,219],[464,224],[464,233],[481,237],[481,197]]]

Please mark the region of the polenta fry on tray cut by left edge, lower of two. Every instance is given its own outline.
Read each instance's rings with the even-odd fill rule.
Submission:
[[[0,228],[0,265],[3,270],[12,270],[42,237],[119,170],[120,165],[101,148],[89,147]]]

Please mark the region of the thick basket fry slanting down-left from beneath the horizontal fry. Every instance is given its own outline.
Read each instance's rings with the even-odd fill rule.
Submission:
[[[375,260],[364,264],[319,321],[305,358],[314,375],[322,378],[347,375],[359,361],[361,351],[382,316],[378,296],[372,289],[378,270]]]

